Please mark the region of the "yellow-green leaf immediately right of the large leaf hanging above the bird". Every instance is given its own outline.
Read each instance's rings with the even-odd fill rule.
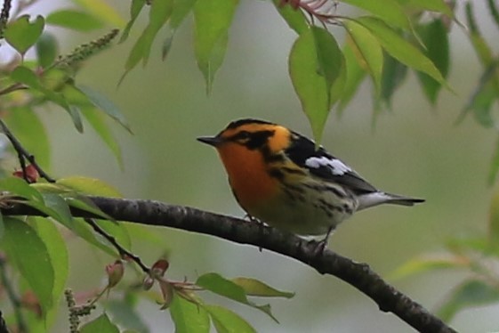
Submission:
[[[350,37],[348,41],[352,51],[357,56],[360,66],[373,77],[374,86],[380,92],[383,64],[382,46],[367,28],[353,20],[347,20],[344,23]]]

